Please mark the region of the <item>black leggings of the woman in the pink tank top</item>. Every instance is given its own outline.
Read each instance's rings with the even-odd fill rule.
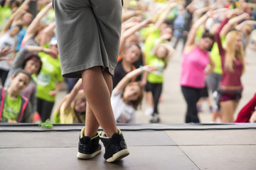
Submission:
[[[200,98],[201,89],[181,86],[181,91],[187,103],[186,123],[199,123],[200,120],[198,118],[196,103]]]

